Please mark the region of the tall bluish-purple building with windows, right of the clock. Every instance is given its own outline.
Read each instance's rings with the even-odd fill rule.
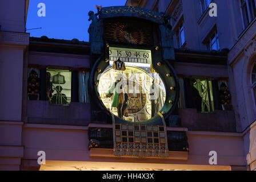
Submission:
[[[217,5],[217,17],[209,16],[210,3]],[[247,164],[255,169],[255,1],[127,1],[126,5],[172,15],[177,48],[230,49],[227,67],[237,132],[244,136]]]

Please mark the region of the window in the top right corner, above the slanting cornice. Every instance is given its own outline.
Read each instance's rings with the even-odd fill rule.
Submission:
[[[241,11],[243,16],[243,24],[245,27],[256,16],[256,0],[241,0]]]

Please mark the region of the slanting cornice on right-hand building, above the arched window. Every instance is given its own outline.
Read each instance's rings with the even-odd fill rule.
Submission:
[[[250,51],[255,49],[255,36],[256,36],[256,21],[251,25],[251,27],[243,34],[243,36],[238,40],[235,46],[230,50],[228,56],[228,62],[231,65],[235,59],[241,54],[245,53],[246,56],[250,56]]]

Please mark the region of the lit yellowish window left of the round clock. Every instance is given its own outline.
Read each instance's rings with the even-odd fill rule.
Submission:
[[[71,72],[47,69],[46,96],[50,104],[69,105],[71,101]]]

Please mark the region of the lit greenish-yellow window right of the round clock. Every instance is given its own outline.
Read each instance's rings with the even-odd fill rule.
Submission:
[[[190,81],[191,104],[201,112],[213,112],[213,86],[210,80],[192,79]]]

